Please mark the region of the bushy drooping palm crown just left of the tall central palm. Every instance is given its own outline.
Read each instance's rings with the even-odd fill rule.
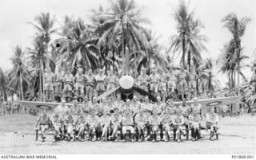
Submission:
[[[68,25],[68,35],[56,40],[60,44],[59,52],[62,53],[63,62],[73,70],[77,67],[95,70],[99,64],[99,52],[91,39],[91,26],[85,25],[82,19],[71,21]]]

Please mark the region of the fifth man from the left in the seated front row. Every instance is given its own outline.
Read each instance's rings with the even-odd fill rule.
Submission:
[[[96,115],[95,109],[92,108],[90,111],[90,116],[88,117],[88,124],[89,124],[89,136],[93,142],[97,140],[96,131],[98,131],[99,123],[100,122],[99,122],[98,115]]]

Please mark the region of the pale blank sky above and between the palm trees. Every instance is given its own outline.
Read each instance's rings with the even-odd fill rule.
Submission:
[[[113,0],[114,1],[114,0]],[[135,0],[138,6],[142,6],[142,17],[151,21],[150,29],[156,37],[160,37],[159,43],[165,48],[170,44],[170,36],[177,33],[177,23],[174,20],[174,9],[178,7],[178,0]],[[187,2],[187,1],[186,1]],[[35,29],[28,21],[34,21],[34,17],[41,12],[50,12],[58,20],[56,28],[62,25],[65,15],[73,15],[74,18],[83,18],[90,23],[88,15],[90,10],[98,9],[98,6],[108,8],[109,0],[1,0],[0,1],[0,67],[12,68],[10,57],[14,54],[14,46],[20,45],[26,49],[31,45]],[[212,57],[214,60],[221,53],[223,45],[230,41],[231,34],[223,27],[222,19],[230,13],[238,15],[238,18],[249,17],[251,21],[246,26],[246,33],[242,37],[244,54],[250,59],[246,64],[251,64],[256,57],[256,1],[255,0],[190,0],[190,10],[195,10],[194,18],[202,21],[204,29],[202,34],[209,37],[206,43],[207,53],[203,57]],[[149,27],[149,26],[148,26]],[[226,75],[218,73],[218,66],[214,67],[214,74],[226,82]],[[247,78],[250,78],[250,68],[242,70]]]

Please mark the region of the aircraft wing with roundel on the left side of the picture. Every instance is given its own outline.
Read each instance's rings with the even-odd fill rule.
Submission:
[[[61,103],[54,103],[54,102],[35,102],[35,101],[18,101],[18,103],[35,111],[42,111],[43,109],[46,109],[47,111],[54,111],[55,107],[61,104]],[[66,103],[66,105],[70,107],[73,104]]]

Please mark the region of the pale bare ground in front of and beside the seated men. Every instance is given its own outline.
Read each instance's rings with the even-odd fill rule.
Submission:
[[[256,150],[256,116],[220,118],[219,140],[170,142],[46,142],[35,141],[37,116],[0,116],[1,154],[254,154]],[[157,146],[157,147],[156,147]]]

